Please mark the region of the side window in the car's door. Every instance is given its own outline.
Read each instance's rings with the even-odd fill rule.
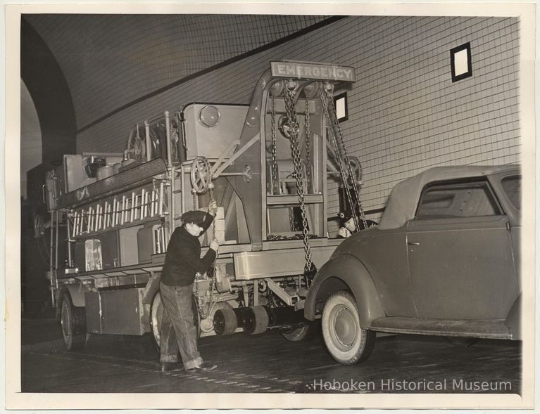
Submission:
[[[425,188],[416,219],[495,216],[500,209],[484,181],[441,183]]]

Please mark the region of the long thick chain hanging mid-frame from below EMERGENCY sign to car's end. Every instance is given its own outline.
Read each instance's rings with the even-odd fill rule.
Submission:
[[[293,87],[294,85],[294,87]],[[304,270],[311,271],[313,269],[313,261],[311,259],[311,249],[308,236],[308,217],[306,216],[306,203],[303,195],[303,174],[300,159],[300,145],[298,139],[298,122],[296,119],[296,105],[294,103],[296,84],[289,82],[285,87],[285,110],[287,111],[287,119],[291,131],[291,153],[294,164],[294,178],[296,179],[296,193],[300,202],[300,212],[302,216],[302,233],[303,247],[306,252],[306,265]]]

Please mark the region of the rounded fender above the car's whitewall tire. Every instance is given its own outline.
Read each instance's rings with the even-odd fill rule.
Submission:
[[[373,320],[386,316],[368,269],[356,257],[342,254],[327,261],[313,278],[304,306],[306,319],[313,321],[318,310],[315,306],[338,290],[353,293],[361,328],[369,328]]]

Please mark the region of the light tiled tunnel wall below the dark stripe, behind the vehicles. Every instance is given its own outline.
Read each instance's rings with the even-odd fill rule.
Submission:
[[[249,103],[270,60],[350,65],[358,80],[341,127],[363,165],[363,207],[377,209],[396,182],[427,167],[519,162],[519,34],[517,18],[344,18],[132,105],[80,132],[77,150],[121,152],[136,122],[193,101]],[[467,42],[472,77],[452,82],[449,51]],[[338,209],[330,183],[329,216]]]

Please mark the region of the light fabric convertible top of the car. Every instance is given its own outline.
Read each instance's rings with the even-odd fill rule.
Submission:
[[[519,164],[505,165],[452,165],[432,167],[409,179],[403,180],[391,190],[387,207],[381,217],[379,229],[398,228],[413,219],[422,188],[428,183],[468,177],[489,176],[501,172],[520,172]]]

